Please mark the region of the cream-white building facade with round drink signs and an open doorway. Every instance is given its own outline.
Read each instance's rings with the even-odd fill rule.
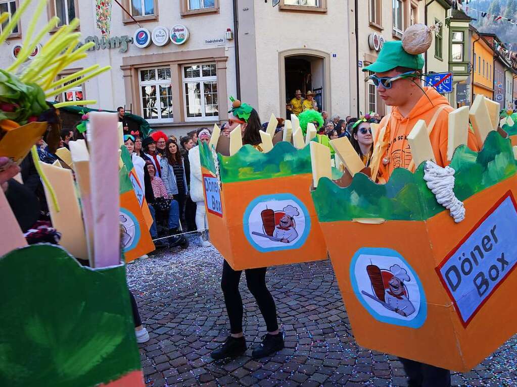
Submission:
[[[0,0],[0,6],[17,8],[23,1]],[[123,106],[152,128],[177,134],[226,121],[230,95],[253,105],[263,121],[271,113],[286,117],[296,89],[315,92],[320,110],[340,115],[350,110],[346,1],[280,0],[274,7],[272,0],[120,3],[131,15],[113,2],[106,39],[97,27],[95,2],[49,1],[36,30],[53,15],[65,24],[77,17],[81,42],[96,43],[86,59],[59,76],[96,63],[111,66],[57,100],[97,100],[90,107],[104,110]],[[26,12],[18,33],[0,47],[3,68],[13,62],[31,18]]]

